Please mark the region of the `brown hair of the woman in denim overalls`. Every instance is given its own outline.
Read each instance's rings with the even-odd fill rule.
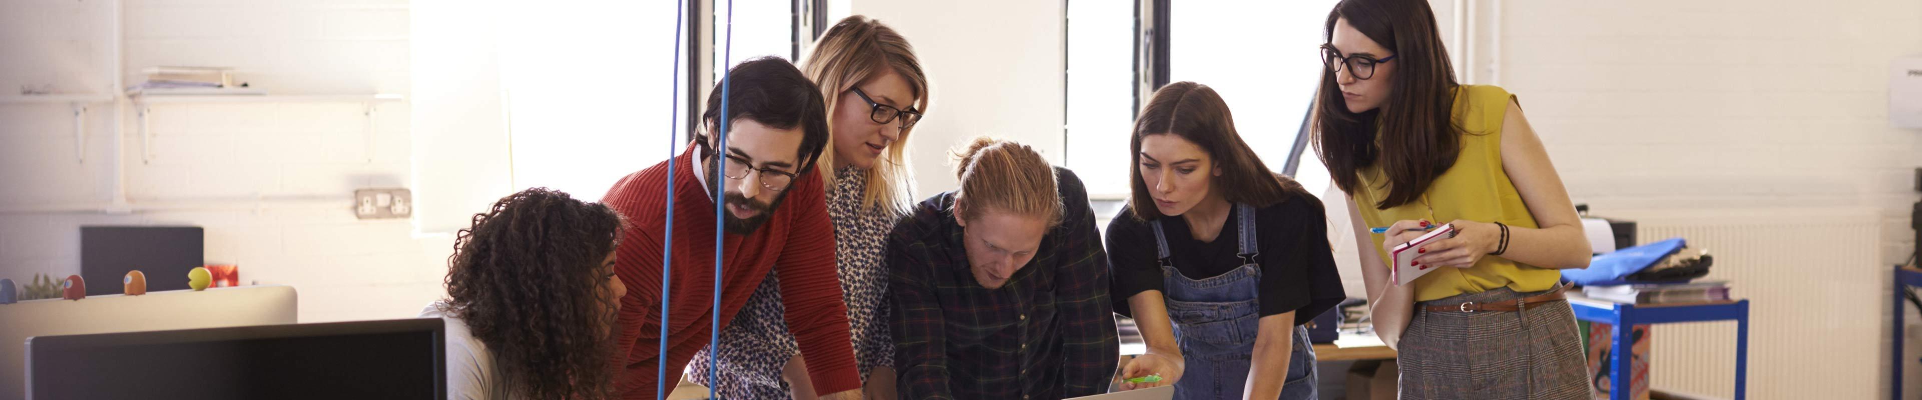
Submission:
[[[1161,217],[1161,210],[1147,194],[1147,183],[1142,181],[1142,138],[1147,135],[1174,135],[1201,146],[1201,152],[1215,158],[1215,165],[1220,167],[1215,183],[1236,185],[1234,190],[1220,190],[1232,204],[1267,208],[1309,194],[1299,183],[1276,175],[1261,156],[1255,156],[1255,150],[1242,140],[1242,133],[1234,131],[1234,113],[1215,88],[1188,81],[1169,83],[1147,98],[1142,115],[1134,119],[1134,138],[1128,142],[1132,154],[1128,187],[1134,190],[1128,208],[1142,221]]]

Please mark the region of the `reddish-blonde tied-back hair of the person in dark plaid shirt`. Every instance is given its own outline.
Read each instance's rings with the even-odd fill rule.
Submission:
[[[1028,144],[976,137],[955,154],[955,177],[961,179],[955,190],[961,219],[974,221],[992,208],[1044,217],[1049,229],[1061,225],[1055,169]]]

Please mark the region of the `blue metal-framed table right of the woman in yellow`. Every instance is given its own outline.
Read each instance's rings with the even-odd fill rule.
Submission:
[[[1611,400],[1628,398],[1628,362],[1632,354],[1630,333],[1634,325],[1645,323],[1695,323],[1695,321],[1736,321],[1736,400],[1749,392],[1749,300],[1709,302],[1709,304],[1620,304],[1580,296],[1568,296],[1574,317],[1591,323],[1609,323],[1614,342],[1609,348],[1609,390]],[[1630,327],[1630,329],[1624,329]]]

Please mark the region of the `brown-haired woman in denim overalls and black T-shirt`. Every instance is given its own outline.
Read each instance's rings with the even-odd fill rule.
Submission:
[[[1111,294],[1147,342],[1122,379],[1163,381],[1122,387],[1174,385],[1180,400],[1315,398],[1301,323],[1343,298],[1320,202],[1270,173],[1203,85],[1155,90],[1132,150],[1134,196],[1107,229]]]

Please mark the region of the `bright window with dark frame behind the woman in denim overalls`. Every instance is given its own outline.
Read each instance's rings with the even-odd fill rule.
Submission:
[[[1320,79],[1322,23],[1334,0],[1174,2],[1169,27],[1170,81],[1220,92],[1242,140],[1282,171]],[[1128,135],[1134,119],[1134,4],[1069,4],[1069,167],[1094,198],[1128,192]],[[1328,171],[1313,148],[1299,154],[1299,179],[1322,194]]]

